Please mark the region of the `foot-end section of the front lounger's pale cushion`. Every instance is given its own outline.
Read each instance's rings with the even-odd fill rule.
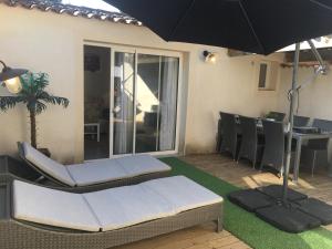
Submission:
[[[221,203],[222,198],[185,176],[174,176],[141,184],[173,205],[177,212]]]

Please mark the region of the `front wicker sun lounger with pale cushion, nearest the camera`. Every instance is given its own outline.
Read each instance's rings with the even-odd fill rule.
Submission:
[[[87,194],[0,185],[1,249],[104,249],[221,218],[222,198],[184,176]]]

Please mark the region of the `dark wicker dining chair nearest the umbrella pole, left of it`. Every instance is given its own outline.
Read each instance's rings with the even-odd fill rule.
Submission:
[[[280,176],[283,173],[284,162],[284,129],[282,122],[262,120],[264,148],[260,163],[260,170],[264,166],[274,168]]]

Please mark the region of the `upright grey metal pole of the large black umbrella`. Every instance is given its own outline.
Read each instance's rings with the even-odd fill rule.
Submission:
[[[299,58],[300,58],[300,43],[295,44],[293,76],[292,76],[292,89],[290,91],[290,110],[289,110],[289,122],[288,122],[288,137],[287,137],[287,151],[286,151],[286,164],[283,168],[283,187],[282,187],[282,203],[287,204],[288,194],[288,177],[291,160],[292,151],[292,135],[293,135],[293,122],[294,122],[294,103],[297,98],[297,82],[299,71]]]

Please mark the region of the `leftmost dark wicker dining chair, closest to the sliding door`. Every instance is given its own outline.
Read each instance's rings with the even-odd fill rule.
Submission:
[[[228,152],[236,159],[239,143],[236,115],[220,112],[220,117],[222,134],[220,152]]]

